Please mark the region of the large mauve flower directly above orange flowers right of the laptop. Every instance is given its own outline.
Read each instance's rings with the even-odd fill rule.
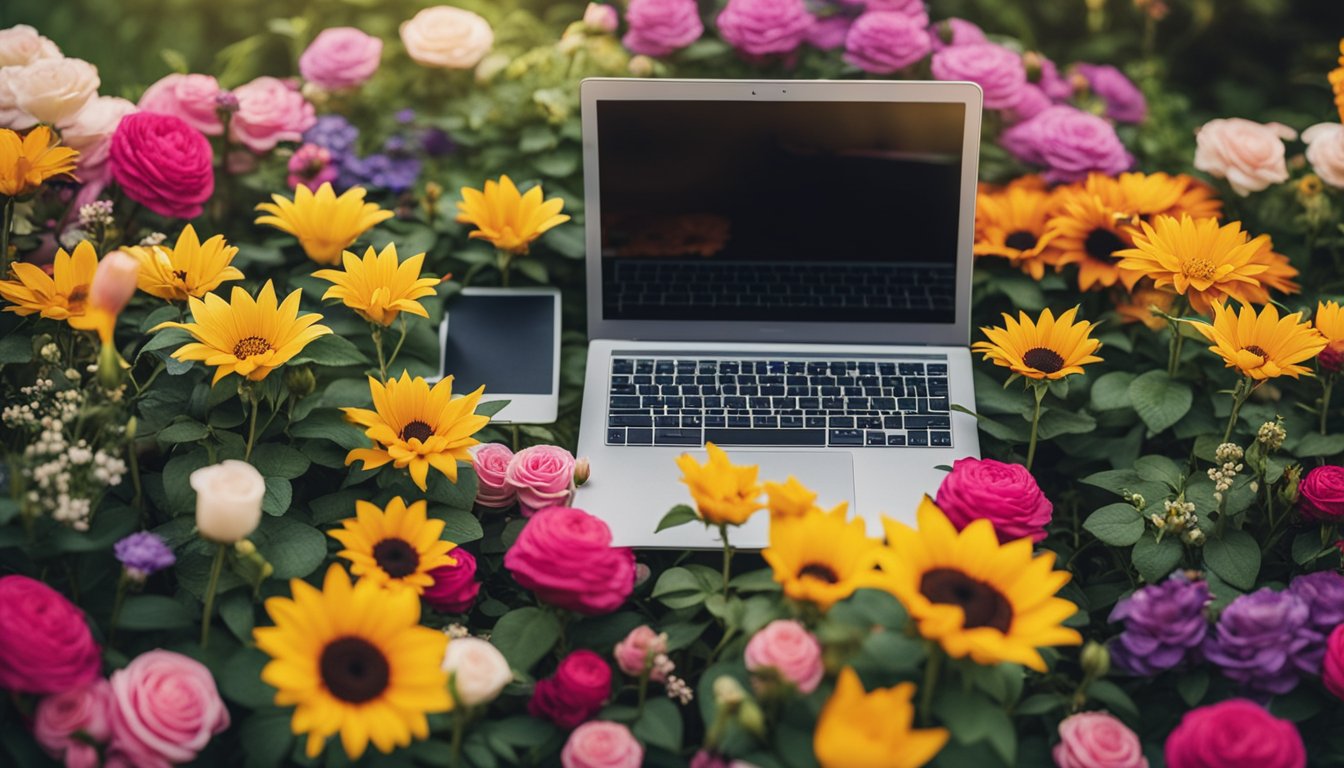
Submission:
[[[934,62],[942,54],[934,54]],[[1044,165],[1047,182],[1078,182],[1093,171],[1113,176],[1134,164],[1110,122],[1064,105],[1008,128],[999,143],[1023,163]]]

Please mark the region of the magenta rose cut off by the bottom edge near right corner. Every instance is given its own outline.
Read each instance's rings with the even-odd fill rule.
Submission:
[[[1297,726],[1234,698],[1185,713],[1167,737],[1167,768],[1304,768]]]

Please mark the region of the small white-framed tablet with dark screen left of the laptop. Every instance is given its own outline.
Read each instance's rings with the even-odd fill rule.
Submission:
[[[481,402],[507,399],[492,421],[551,424],[560,402],[560,292],[464,288],[444,305],[438,378],[454,393],[485,385]]]

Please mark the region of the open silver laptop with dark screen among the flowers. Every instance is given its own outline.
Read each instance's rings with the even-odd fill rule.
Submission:
[[[585,79],[589,356],[577,506],[620,546],[716,547],[676,457],[847,502],[874,537],[980,451],[962,82]],[[769,514],[734,530],[769,543]]]

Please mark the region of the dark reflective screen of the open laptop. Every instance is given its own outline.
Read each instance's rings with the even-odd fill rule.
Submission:
[[[954,323],[965,105],[595,106],[605,319]]]

